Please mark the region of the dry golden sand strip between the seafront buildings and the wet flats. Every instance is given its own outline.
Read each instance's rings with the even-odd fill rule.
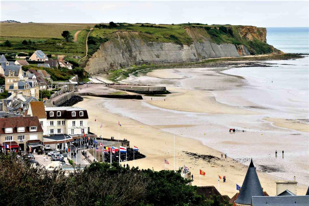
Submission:
[[[162,130],[162,125],[150,126],[129,117],[111,113],[104,107],[104,101],[106,101],[104,98],[87,97],[87,99],[77,103],[75,106],[87,109],[88,115],[91,117],[96,116],[97,111],[101,111],[101,113],[104,114],[102,116],[97,116],[97,121],[103,123],[103,137],[115,136],[115,139],[117,139],[115,134],[118,132],[118,121],[120,121],[122,125],[120,138],[127,138],[130,141],[131,147],[133,147],[133,145],[139,147],[140,152],[146,155],[146,158],[135,160],[135,166],[138,166],[140,169],[150,168],[154,170],[163,170],[164,158],[166,158],[170,162],[167,169],[172,170],[173,134]],[[91,106],[89,104],[90,102]],[[91,131],[95,131],[95,124],[91,124],[90,122],[89,126]],[[173,125],[170,126],[173,127]],[[169,126],[164,125],[163,127],[168,128]],[[99,128],[98,131],[100,131]],[[101,135],[100,132],[98,132],[98,135]],[[216,158],[208,162],[201,158],[193,158],[196,155],[192,156],[188,155],[188,153],[210,155]],[[222,195],[229,195],[232,197],[237,192],[235,190],[235,183],[239,185],[242,184],[248,166],[229,157],[227,159],[221,159],[221,153],[223,152],[204,145],[200,140],[176,135],[175,156],[178,158],[178,167],[183,167],[183,165],[189,167],[194,179],[196,179],[192,184],[199,185],[197,181],[199,169],[206,172],[206,177],[201,178],[201,186],[214,185],[217,188],[218,175],[225,175],[227,177],[227,182],[224,183],[224,185],[220,182],[219,189],[217,189]],[[128,164],[133,166],[133,161],[128,161]],[[269,195],[275,195],[275,181],[282,179],[261,171],[257,171],[257,173],[264,191],[267,191]],[[298,184],[299,194],[305,193],[306,190],[307,186]]]

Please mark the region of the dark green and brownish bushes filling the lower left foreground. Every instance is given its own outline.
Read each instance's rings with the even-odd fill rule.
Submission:
[[[179,172],[123,168],[114,162],[93,163],[69,175],[47,171],[14,155],[0,154],[0,199],[3,205],[200,205],[224,206],[218,198],[197,195]]]

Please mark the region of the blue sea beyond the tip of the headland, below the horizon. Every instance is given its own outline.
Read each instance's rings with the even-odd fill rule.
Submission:
[[[266,39],[285,53],[309,53],[309,27],[267,28]]]

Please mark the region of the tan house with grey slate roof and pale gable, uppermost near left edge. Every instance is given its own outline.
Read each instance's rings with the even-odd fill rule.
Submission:
[[[4,70],[5,89],[8,90],[14,81],[23,80],[21,65],[6,65]]]

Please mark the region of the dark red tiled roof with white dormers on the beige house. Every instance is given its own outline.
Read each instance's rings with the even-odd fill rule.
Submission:
[[[30,132],[29,127],[36,126],[37,131]],[[25,116],[25,117],[8,117],[0,118],[0,134],[18,134],[18,127],[25,127],[24,133],[37,133],[43,132],[40,121],[36,116]],[[5,128],[13,128],[13,132],[5,133]]]

